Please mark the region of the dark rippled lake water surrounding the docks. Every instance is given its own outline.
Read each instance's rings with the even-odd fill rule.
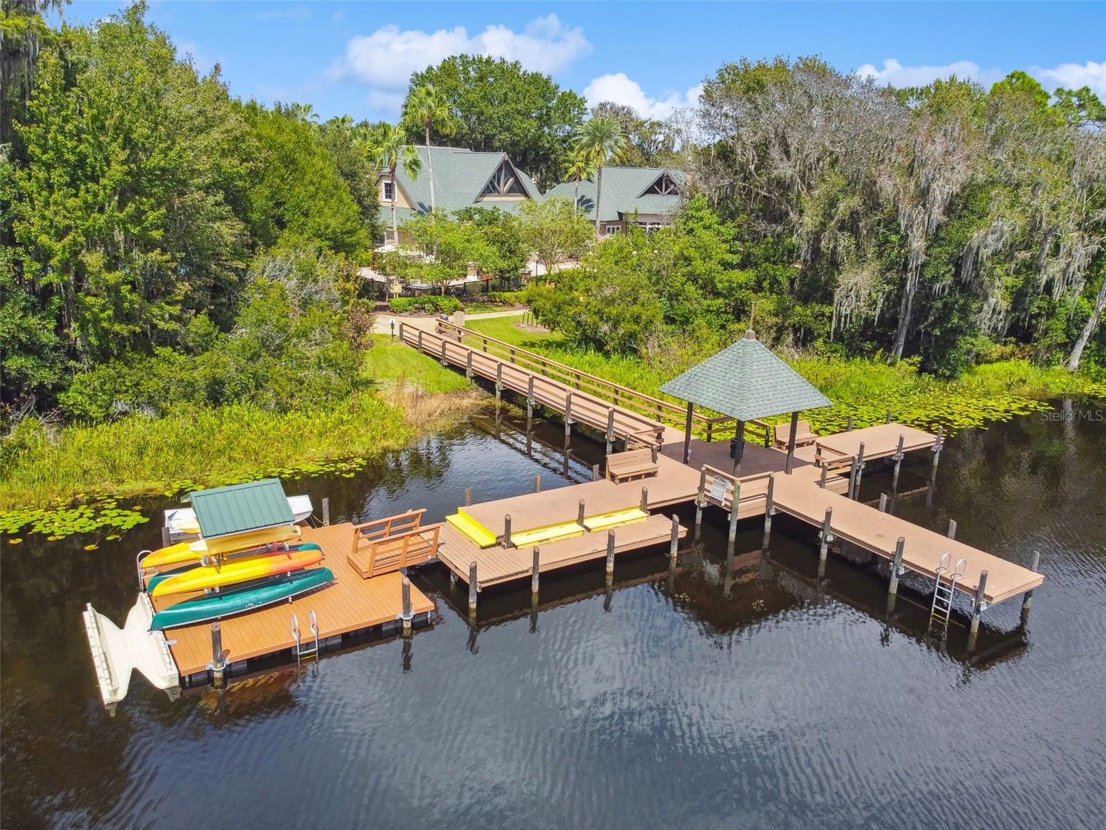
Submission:
[[[661,551],[619,559],[609,594],[601,566],[543,578],[536,615],[529,582],[488,591],[473,631],[435,566],[414,581],[438,618],[409,643],[176,703],[136,675],[112,718],[80,612],[122,624],[158,522],[92,552],[28,536],[0,561],[0,827],[1103,827],[1106,423],[1079,408],[952,438],[931,505],[895,504],[1019,562],[1041,551],[1027,624],[1003,603],[972,649],[962,615],[946,644],[926,635],[920,593],[888,619],[870,567],[831,557],[818,580],[812,531],[782,517],[769,557],[743,523],[728,566],[708,512],[675,572]],[[528,455],[489,412],[356,478],[285,484],[330,496],[333,520],[440,520],[466,487],[588,478],[602,447],[576,437],[566,461],[561,442],[542,426]],[[869,467],[864,497],[888,486]]]

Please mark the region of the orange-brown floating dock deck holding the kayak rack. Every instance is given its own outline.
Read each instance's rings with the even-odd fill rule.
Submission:
[[[292,614],[300,623],[301,642],[314,644],[309,620],[315,612],[320,642],[363,629],[395,623],[403,613],[403,574],[398,571],[363,579],[348,561],[354,526],[344,522],[321,528],[304,528],[303,541],[323,550],[320,567],[330,568],[334,582],[311,593],[247,614],[220,621],[225,660],[232,668],[243,661],[288,652],[296,644],[292,636]],[[154,598],[156,611],[185,595]],[[410,587],[411,612],[416,619],[435,610],[434,602]],[[211,623],[198,623],[165,632],[169,652],[181,678],[207,677],[211,663]]]

